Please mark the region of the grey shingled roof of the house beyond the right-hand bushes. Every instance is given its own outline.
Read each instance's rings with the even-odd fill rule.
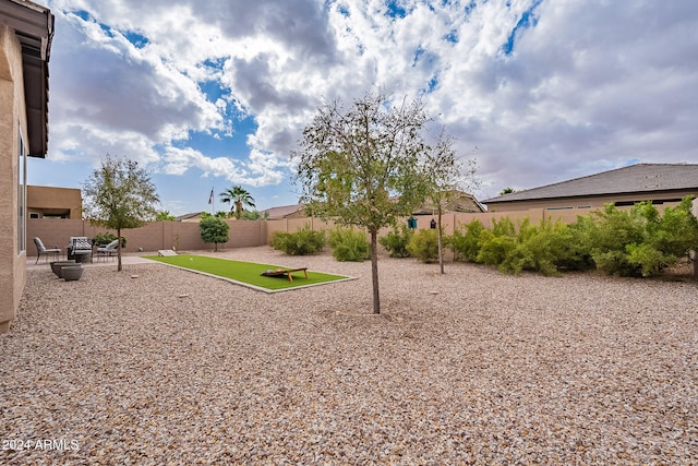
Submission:
[[[637,164],[482,201],[484,204],[696,189],[697,164]]]

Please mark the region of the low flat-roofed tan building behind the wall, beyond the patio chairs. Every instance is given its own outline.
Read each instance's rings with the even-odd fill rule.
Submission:
[[[26,187],[28,218],[81,219],[83,196],[77,188]]]

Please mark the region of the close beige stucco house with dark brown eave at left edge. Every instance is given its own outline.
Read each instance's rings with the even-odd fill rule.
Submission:
[[[26,283],[26,157],[46,157],[53,21],[31,1],[0,0],[0,333]]]

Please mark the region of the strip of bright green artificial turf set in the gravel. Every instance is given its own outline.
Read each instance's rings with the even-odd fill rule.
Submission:
[[[317,285],[321,283],[336,282],[349,278],[342,275],[330,275],[311,271],[308,271],[308,278],[305,278],[305,274],[303,273],[303,271],[300,271],[291,273],[293,282],[290,282],[286,275],[266,277],[262,275],[262,272],[269,268],[297,267],[281,267],[279,265],[230,261],[228,259],[208,258],[205,255],[193,254],[181,254],[171,256],[145,255],[145,258],[169,265],[176,265],[182,268],[189,268],[196,272],[216,275],[222,278],[229,278],[241,284],[265,288],[267,290],[297,288],[308,285]]]

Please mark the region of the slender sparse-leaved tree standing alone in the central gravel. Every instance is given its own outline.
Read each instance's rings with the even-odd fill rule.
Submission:
[[[420,157],[429,117],[419,101],[389,99],[382,91],[317,109],[292,153],[301,202],[321,218],[365,228],[371,236],[373,312],[381,313],[377,235],[409,216],[428,193]]]

